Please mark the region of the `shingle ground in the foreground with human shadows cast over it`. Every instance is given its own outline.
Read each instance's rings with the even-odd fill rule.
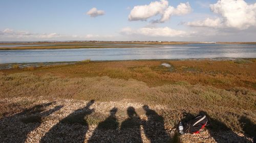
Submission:
[[[0,101],[24,99],[35,101],[30,98]],[[164,125],[163,117],[156,112],[166,108],[161,105],[147,107],[129,100],[96,102],[56,99],[50,102],[44,98],[38,99],[34,105],[40,106],[0,119],[0,142],[169,142],[177,132]],[[200,134],[181,135],[180,140],[252,142],[243,134],[231,131],[210,134],[206,129]]]

